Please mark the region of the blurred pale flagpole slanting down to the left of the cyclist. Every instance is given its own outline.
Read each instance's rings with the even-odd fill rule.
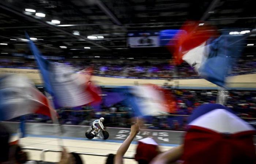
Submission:
[[[48,102],[50,104],[50,106],[52,107],[53,110],[50,110],[50,113],[51,113],[51,117],[52,117],[52,121],[53,121],[53,124],[56,125],[56,128],[57,128],[57,136],[58,136],[58,140],[57,142],[59,143],[58,145],[63,148],[64,147],[64,142],[63,142],[63,139],[62,139],[62,136],[63,136],[63,132],[60,128],[60,122],[59,122],[59,119],[57,117],[57,114],[55,111],[55,107],[54,107],[54,104],[53,104],[53,100],[52,100],[52,97],[50,96],[50,94],[48,92],[45,91],[45,95],[48,99]]]

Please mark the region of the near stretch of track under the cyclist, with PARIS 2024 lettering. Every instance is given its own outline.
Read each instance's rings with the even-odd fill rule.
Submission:
[[[17,133],[19,122],[2,122],[6,125],[11,133],[15,136]],[[79,125],[63,125],[63,145],[68,151],[109,154],[116,153],[121,143],[129,134],[128,128],[107,128],[110,133],[108,140],[100,140],[95,138],[89,140],[84,133],[90,126]],[[170,148],[176,147],[182,143],[182,138],[185,132],[169,131],[169,130],[149,130],[142,129],[141,132],[133,140],[125,156],[134,157],[136,152],[136,141],[151,136],[159,143],[161,151],[166,151]],[[256,143],[256,137],[255,143]],[[26,123],[26,137],[19,140],[22,147],[37,148],[37,149],[51,149],[61,150],[59,146],[59,139],[57,137],[57,127],[53,124],[41,123]],[[41,151],[28,150],[30,159],[40,160]],[[57,162],[60,153],[47,152],[45,153],[45,161]],[[82,159],[90,164],[104,164],[106,157],[82,155]],[[136,164],[132,159],[125,159],[126,164]]]

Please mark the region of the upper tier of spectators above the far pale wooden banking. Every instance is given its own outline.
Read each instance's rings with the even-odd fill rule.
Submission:
[[[172,78],[172,77],[197,77],[193,67],[186,62],[174,66],[170,60],[83,60],[67,59],[56,62],[64,62],[73,66],[76,70],[93,67],[95,75],[112,75],[124,77],[153,77],[153,78]],[[4,67],[24,67],[37,68],[32,59],[24,58],[0,58],[0,66]],[[234,66],[232,73],[244,73],[255,71],[255,60],[240,59]]]

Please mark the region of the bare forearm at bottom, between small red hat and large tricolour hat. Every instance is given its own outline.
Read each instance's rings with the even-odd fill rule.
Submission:
[[[169,164],[179,160],[183,154],[184,145],[172,148],[156,156],[150,164]]]

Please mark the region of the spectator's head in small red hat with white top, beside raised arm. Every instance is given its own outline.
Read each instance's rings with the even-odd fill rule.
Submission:
[[[148,164],[160,153],[157,142],[153,138],[143,138],[138,141],[135,160],[139,164]]]

